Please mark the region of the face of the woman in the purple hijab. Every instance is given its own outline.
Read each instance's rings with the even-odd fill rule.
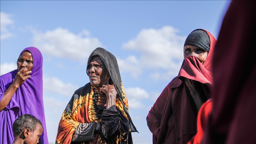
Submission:
[[[33,68],[32,54],[29,52],[23,52],[17,60],[17,68],[20,71],[21,68],[26,71],[31,71]]]

